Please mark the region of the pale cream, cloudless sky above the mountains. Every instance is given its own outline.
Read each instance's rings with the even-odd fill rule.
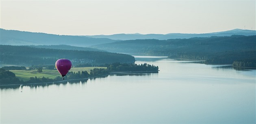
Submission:
[[[255,30],[256,0],[0,0],[0,28],[60,35]]]

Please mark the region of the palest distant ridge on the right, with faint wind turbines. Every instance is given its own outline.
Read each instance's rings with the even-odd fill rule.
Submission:
[[[136,40],[136,39],[158,39],[158,40],[167,40],[167,39],[176,39],[176,38],[193,38],[193,37],[209,37],[209,36],[232,36],[232,35],[245,35],[251,36],[256,35],[255,30],[242,30],[234,29],[224,32],[213,32],[206,34],[181,34],[181,33],[170,33],[170,34],[113,34],[113,35],[93,35],[87,37],[91,38],[109,38],[113,40]]]

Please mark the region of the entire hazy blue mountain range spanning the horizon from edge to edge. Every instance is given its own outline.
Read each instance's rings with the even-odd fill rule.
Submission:
[[[214,32],[206,34],[113,34],[113,35],[94,35],[94,36],[71,36],[56,35],[37,32],[25,32],[18,30],[5,30],[0,28],[1,45],[72,45],[77,47],[89,47],[105,43],[113,43],[122,40],[135,39],[176,39],[210,36],[231,36],[231,35],[256,35],[255,30],[234,29],[224,32]]]

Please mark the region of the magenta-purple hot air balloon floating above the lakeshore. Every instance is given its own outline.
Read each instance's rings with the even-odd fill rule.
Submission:
[[[57,70],[59,71],[61,76],[63,77],[63,80],[64,80],[64,76],[67,75],[71,66],[72,66],[72,63],[68,59],[59,59],[55,62],[55,67],[57,68]]]

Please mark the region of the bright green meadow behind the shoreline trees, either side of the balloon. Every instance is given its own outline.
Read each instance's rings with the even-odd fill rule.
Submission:
[[[80,68],[71,68],[70,71],[78,72],[78,71],[87,71],[90,73],[90,70],[93,68],[105,68],[106,67],[80,67]],[[23,81],[28,81],[30,77],[37,76],[38,78],[48,77],[50,79],[54,79],[56,76],[61,76],[57,70],[43,70],[42,73],[38,73],[37,70],[10,70],[15,73],[16,77],[19,79],[23,79]]]

